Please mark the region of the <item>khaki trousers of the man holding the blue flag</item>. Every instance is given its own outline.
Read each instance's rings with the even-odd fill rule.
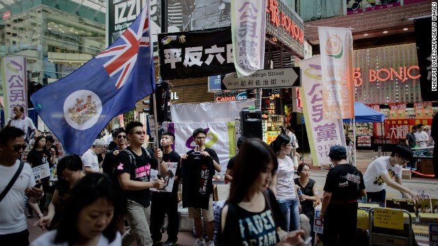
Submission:
[[[137,242],[139,246],[151,246],[152,238],[149,231],[148,218],[151,215],[151,206],[144,208],[141,204],[132,200],[127,201],[126,219],[129,230],[123,234],[122,245],[132,245]]]

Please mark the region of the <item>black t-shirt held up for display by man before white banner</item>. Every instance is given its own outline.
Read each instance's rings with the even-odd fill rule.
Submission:
[[[209,197],[213,192],[213,176],[215,173],[213,160],[219,163],[218,154],[205,148],[211,158],[190,150],[183,161],[183,208],[209,209]]]

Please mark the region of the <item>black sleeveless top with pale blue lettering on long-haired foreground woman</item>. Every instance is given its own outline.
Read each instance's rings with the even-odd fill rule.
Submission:
[[[265,208],[260,213],[253,213],[237,204],[228,205],[227,219],[224,231],[218,230],[218,243],[220,246],[232,245],[276,245],[279,236],[276,228],[285,224],[285,218],[274,193],[268,189],[272,210],[265,199]],[[222,217],[220,218],[222,220]],[[219,225],[222,224],[222,221]]]

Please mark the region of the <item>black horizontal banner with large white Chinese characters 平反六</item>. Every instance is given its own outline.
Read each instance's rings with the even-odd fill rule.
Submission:
[[[235,72],[231,28],[158,34],[163,80]]]

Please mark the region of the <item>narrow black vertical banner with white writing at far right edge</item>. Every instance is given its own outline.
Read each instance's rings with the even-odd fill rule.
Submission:
[[[414,20],[413,25],[415,27],[415,42],[417,43],[422,99],[425,101],[438,100],[437,42],[432,43],[432,35],[435,35],[435,40],[437,39],[437,22],[434,22],[435,27],[433,27],[432,17],[418,18]]]

